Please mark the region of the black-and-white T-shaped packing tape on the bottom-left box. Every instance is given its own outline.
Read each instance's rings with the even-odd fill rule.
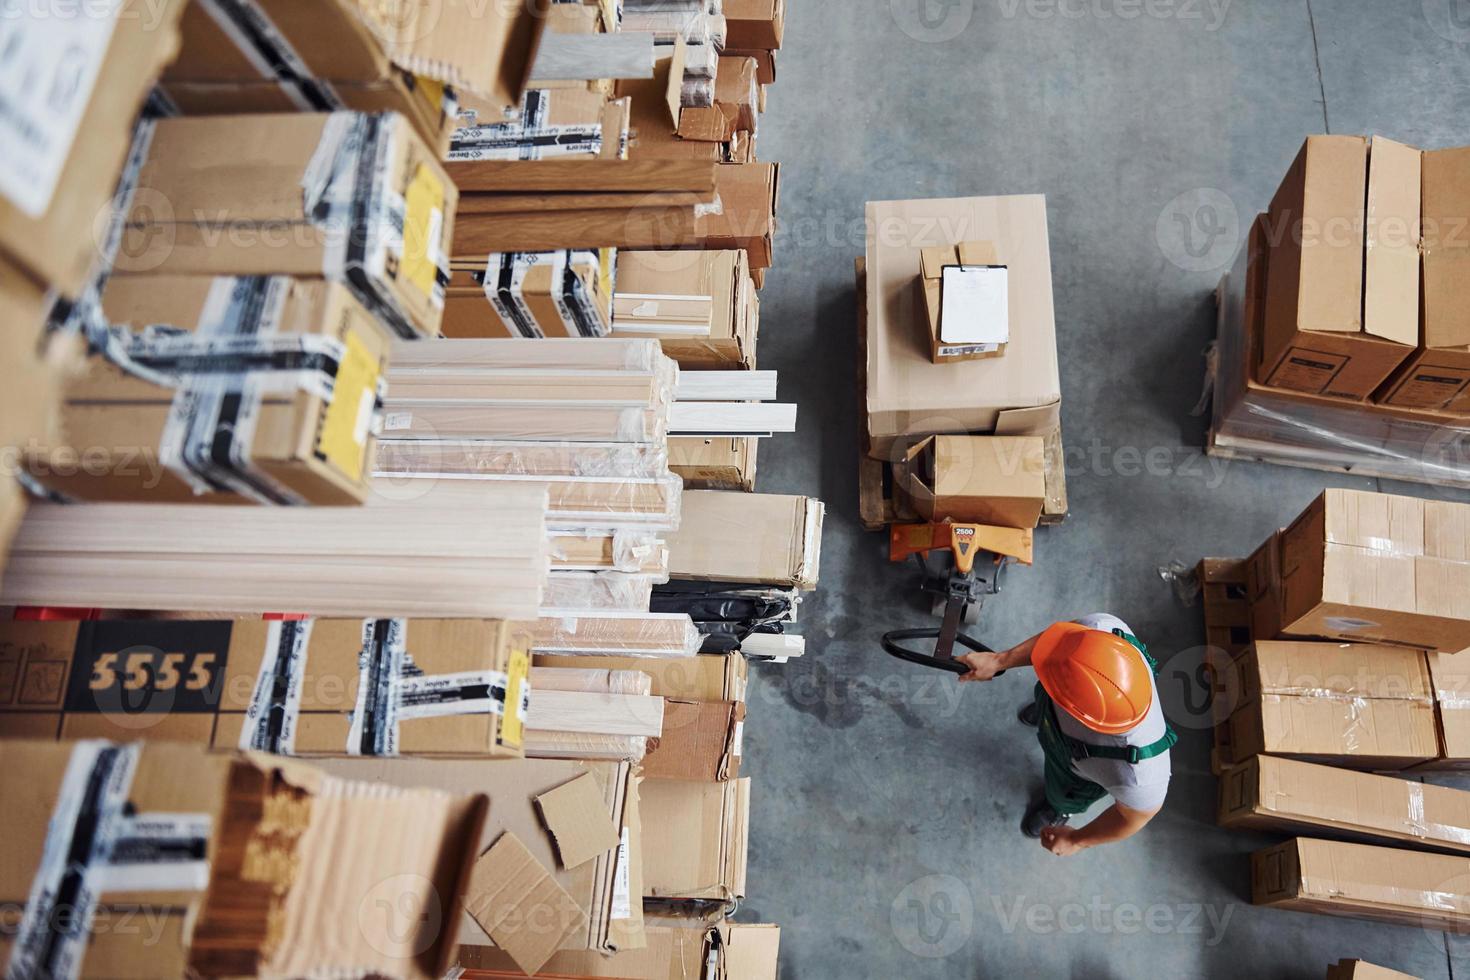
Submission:
[[[16,927],[6,980],[81,974],[101,893],[203,890],[207,814],[129,814],[141,743],[76,742]]]

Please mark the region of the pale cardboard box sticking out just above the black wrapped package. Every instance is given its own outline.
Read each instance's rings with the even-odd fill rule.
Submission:
[[[669,574],[814,589],[822,501],[779,494],[685,491],[679,530],[666,536]]]

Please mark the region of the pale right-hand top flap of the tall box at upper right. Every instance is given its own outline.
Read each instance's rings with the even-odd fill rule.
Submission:
[[[1419,344],[1419,150],[1373,137],[1364,223],[1363,331]]]

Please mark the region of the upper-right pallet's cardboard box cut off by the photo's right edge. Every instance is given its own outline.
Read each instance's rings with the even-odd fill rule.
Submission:
[[[1470,414],[1470,147],[1423,156],[1423,313],[1419,351],[1379,401]]]

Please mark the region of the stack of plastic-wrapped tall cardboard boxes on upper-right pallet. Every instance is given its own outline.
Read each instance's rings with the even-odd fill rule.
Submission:
[[[1219,455],[1470,485],[1470,150],[1311,137],[1222,282]]]

